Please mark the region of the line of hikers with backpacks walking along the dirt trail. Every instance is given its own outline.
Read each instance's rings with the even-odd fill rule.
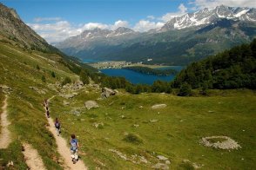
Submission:
[[[44,105],[44,108],[46,111],[47,118],[50,118],[49,101],[47,99],[45,99],[43,105]],[[54,126],[56,128],[57,136],[59,136],[59,134],[61,133],[61,131],[60,131],[61,126],[60,126],[60,122],[58,121],[57,118],[55,119]],[[78,148],[79,148],[78,141],[76,139],[75,134],[71,134],[70,144],[71,144],[71,159],[72,159],[73,163],[75,164],[78,160]]]

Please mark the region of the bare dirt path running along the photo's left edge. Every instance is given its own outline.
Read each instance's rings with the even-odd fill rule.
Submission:
[[[10,131],[8,126],[10,125],[10,121],[7,120],[7,99],[8,96],[5,95],[5,100],[3,101],[2,114],[1,114],[1,134],[0,134],[0,148],[7,148],[10,144]]]

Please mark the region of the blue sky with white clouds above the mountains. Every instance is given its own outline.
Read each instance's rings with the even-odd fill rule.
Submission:
[[[127,27],[144,32],[162,27],[175,16],[214,8],[256,8],[255,0],[0,0],[17,10],[47,42],[61,42],[85,29]]]

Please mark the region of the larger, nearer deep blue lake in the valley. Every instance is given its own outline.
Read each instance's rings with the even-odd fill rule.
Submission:
[[[129,69],[100,69],[100,71],[105,75],[123,76],[125,77],[126,80],[134,84],[140,83],[140,84],[152,85],[152,83],[157,80],[170,82],[175,78],[175,75],[168,75],[168,76],[146,75],[146,74],[141,74]]]

